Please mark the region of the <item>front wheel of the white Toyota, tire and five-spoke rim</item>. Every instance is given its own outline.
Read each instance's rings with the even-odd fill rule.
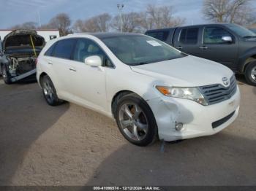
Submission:
[[[150,107],[135,93],[117,103],[115,118],[121,134],[132,144],[147,146],[157,139],[157,122]]]

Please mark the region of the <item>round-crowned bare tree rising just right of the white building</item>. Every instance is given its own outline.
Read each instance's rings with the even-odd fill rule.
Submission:
[[[48,25],[42,26],[47,28],[58,28],[60,36],[65,36],[69,33],[71,33],[69,26],[71,24],[71,20],[69,18],[69,15],[66,13],[60,13],[53,17]]]

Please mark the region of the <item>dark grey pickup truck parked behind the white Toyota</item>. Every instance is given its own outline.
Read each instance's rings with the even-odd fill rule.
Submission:
[[[146,31],[176,49],[222,63],[256,85],[256,34],[236,24],[207,24]]]

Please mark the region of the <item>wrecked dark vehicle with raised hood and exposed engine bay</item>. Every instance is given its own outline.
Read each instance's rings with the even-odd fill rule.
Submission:
[[[0,74],[11,84],[36,76],[36,61],[45,39],[34,30],[15,30],[4,37],[0,52]]]

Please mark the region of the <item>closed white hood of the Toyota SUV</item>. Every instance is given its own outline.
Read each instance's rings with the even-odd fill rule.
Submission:
[[[132,71],[145,74],[162,81],[165,85],[177,87],[198,87],[222,84],[222,79],[230,79],[233,71],[219,63],[188,55],[170,61],[131,66]]]

